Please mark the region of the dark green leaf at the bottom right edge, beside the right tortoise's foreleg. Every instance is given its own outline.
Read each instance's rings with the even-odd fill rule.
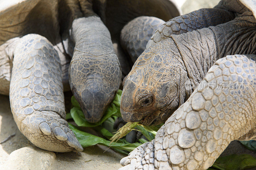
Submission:
[[[249,169],[256,166],[256,159],[248,154],[242,155],[228,155],[219,157],[212,168],[216,168],[219,170],[242,170]]]

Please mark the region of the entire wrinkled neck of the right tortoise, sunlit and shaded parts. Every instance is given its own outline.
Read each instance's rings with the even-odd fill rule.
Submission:
[[[255,54],[255,18],[245,11],[236,19],[181,35],[172,35],[195,89],[216,60],[226,55]]]

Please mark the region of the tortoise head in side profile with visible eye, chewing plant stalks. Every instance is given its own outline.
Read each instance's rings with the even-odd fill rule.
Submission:
[[[191,93],[182,60],[165,45],[147,48],[125,77],[120,110],[126,122],[163,123]]]

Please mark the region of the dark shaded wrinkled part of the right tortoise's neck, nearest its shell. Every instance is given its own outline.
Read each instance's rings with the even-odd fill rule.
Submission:
[[[256,54],[256,21],[246,13],[225,24],[209,27],[217,40],[217,59],[234,54]]]

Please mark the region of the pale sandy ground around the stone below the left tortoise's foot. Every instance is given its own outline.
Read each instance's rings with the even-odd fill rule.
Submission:
[[[0,95],[0,101],[0,141],[3,141],[10,135],[15,134],[15,136],[13,136],[11,139],[7,140],[3,144],[0,144],[1,167],[7,161],[11,152],[26,146],[33,146],[33,144],[31,144],[28,139],[18,130],[12,117],[9,97]],[[52,165],[50,169],[105,170],[106,167],[108,167],[108,169],[118,169],[122,167],[119,164],[119,161],[126,155],[116,153],[111,149],[104,152],[106,149],[107,147],[105,146],[96,145],[85,148],[84,152],[54,153],[56,156],[51,162]],[[29,153],[26,152],[25,154],[20,154],[26,156],[26,154]],[[27,161],[29,162],[31,160]],[[12,164],[13,163],[15,162],[12,162]],[[36,167],[34,168],[36,169]]]

